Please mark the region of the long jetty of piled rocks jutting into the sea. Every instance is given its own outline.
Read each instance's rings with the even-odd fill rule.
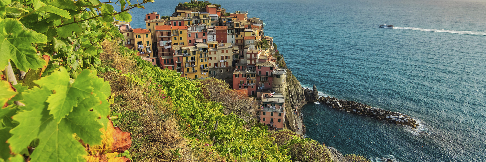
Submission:
[[[412,117],[399,113],[383,110],[380,108],[374,108],[363,103],[355,101],[348,101],[344,99],[337,99],[335,97],[319,97],[319,102],[329,105],[333,109],[346,111],[348,113],[355,113],[360,115],[370,116],[371,118],[386,120],[390,123],[399,124],[402,126],[410,126],[413,129],[417,129],[419,126],[417,121]]]

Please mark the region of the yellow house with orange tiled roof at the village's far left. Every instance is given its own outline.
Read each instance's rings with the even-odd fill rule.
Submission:
[[[152,53],[152,33],[146,29],[133,29],[134,42],[140,56],[153,57]]]

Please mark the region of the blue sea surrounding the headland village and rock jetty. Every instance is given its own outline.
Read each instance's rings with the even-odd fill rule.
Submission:
[[[189,1],[189,0],[188,0]],[[134,10],[170,15],[179,1]],[[373,161],[486,161],[486,2],[211,0],[267,24],[288,67],[322,95],[413,116],[419,130],[310,103],[307,135]],[[392,24],[397,29],[378,28]],[[316,125],[317,124],[317,125]]]

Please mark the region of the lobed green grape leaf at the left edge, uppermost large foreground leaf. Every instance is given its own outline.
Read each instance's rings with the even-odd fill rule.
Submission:
[[[12,60],[18,69],[37,69],[46,62],[37,54],[32,43],[46,43],[44,34],[24,30],[22,23],[12,18],[0,20],[0,67]]]

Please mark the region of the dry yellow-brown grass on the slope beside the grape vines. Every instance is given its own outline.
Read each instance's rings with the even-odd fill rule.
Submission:
[[[114,41],[115,42],[115,41]],[[188,148],[180,136],[179,126],[169,113],[172,103],[158,97],[156,90],[149,90],[145,85],[131,82],[121,74],[139,74],[136,62],[138,57],[120,53],[120,48],[113,42],[102,43],[104,53],[100,59],[104,65],[121,70],[99,74],[111,84],[115,94],[112,113],[120,113],[119,126],[123,131],[132,133],[132,147],[129,149],[134,162],[177,162],[184,158],[174,156],[173,150],[179,148],[181,156],[186,156]]]

